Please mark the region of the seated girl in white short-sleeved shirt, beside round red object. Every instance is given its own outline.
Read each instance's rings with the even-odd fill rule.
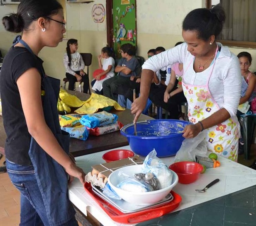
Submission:
[[[92,90],[94,90],[97,94],[103,95],[102,91],[102,83],[108,78],[112,78],[115,73],[115,53],[110,47],[104,47],[101,50],[101,54],[98,56],[98,64],[99,68],[104,70],[102,73],[98,74],[95,80],[92,81]],[[103,63],[101,63],[101,59],[103,58]],[[100,79],[103,75],[106,75],[105,78]]]

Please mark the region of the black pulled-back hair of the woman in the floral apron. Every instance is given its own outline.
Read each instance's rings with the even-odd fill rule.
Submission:
[[[207,41],[211,35],[217,36],[222,31],[226,16],[223,7],[218,4],[212,9],[192,10],[183,20],[184,31],[197,31],[197,38]]]

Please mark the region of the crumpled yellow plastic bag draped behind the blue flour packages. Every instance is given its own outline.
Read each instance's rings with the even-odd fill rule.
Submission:
[[[78,114],[93,114],[95,112],[98,112],[98,109],[110,106],[115,107],[115,109],[119,111],[125,110],[125,108],[121,107],[115,100],[112,100],[102,95],[98,95],[96,93],[92,93],[90,98],[85,101],[83,106],[76,109],[75,112]]]

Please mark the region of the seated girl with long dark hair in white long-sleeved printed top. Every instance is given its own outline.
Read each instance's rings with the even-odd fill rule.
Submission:
[[[76,39],[69,39],[64,54],[63,63],[68,78],[68,90],[74,90],[76,82],[83,82],[83,92],[87,93],[89,89],[89,77],[83,71],[85,63],[80,53],[77,51],[78,42]]]

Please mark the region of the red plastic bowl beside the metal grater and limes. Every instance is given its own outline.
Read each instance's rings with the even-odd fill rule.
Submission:
[[[190,184],[198,179],[203,167],[201,164],[194,162],[177,162],[171,164],[169,169],[177,173],[179,183]]]

